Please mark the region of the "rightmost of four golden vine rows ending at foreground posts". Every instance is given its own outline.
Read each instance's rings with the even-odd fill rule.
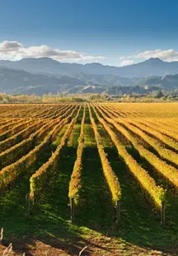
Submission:
[[[119,142],[116,134],[112,131],[110,125],[108,125],[108,123],[106,122],[110,122],[110,119],[104,114],[104,112],[97,108],[99,114],[104,117],[103,119],[99,116],[95,108],[93,108],[93,110],[95,111],[99,122],[108,132],[114,145],[116,145],[119,156],[122,157],[122,159],[125,161],[125,164],[128,166],[131,174],[133,174],[133,177],[135,177],[138,181],[139,186],[142,188],[142,191],[147,195],[149,202],[155,206],[156,210],[161,211],[162,202],[165,201],[164,189],[156,186],[155,180],[147,173],[147,171],[145,171],[144,168],[139,165],[139,163],[136,162],[136,160],[133,159],[133,157],[128,153],[125,147]]]

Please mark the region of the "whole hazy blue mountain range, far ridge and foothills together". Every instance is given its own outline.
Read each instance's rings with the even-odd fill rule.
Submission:
[[[116,94],[118,90],[146,93],[156,88],[178,88],[178,62],[151,58],[134,65],[112,67],[99,63],[61,63],[49,58],[0,61],[0,91],[5,93]]]

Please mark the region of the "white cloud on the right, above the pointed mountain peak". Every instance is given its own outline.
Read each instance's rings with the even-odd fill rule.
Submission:
[[[167,49],[167,50],[145,50],[141,53],[135,53],[131,56],[121,56],[119,59],[150,59],[150,58],[159,58],[166,62],[174,62],[178,61],[178,51],[174,49]]]

